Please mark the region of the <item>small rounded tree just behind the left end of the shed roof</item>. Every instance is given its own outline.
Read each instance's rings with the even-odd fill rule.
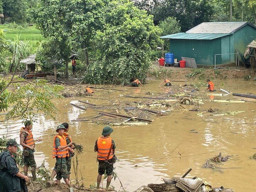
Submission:
[[[158,26],[162,30],[161,36],[180,33],[181,27],[179,23],[180,21],[177,21],[175,17],[167,17],[164,21],[160,21]]]

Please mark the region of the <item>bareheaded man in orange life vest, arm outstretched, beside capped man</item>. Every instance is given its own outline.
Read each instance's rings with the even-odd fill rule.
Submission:
[[[36,180],[36,161],[34,160],[34,141],[42,141],[42,139],[33,139],[31,132],[32,122],[26,121],[25,127],[20,129],[20,144],[23,146],[23,163],[24,175],[27,176],[28,167],[31,167],[33,180]]]

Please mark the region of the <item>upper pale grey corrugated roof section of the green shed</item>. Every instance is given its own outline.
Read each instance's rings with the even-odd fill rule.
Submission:
[[[234,33],[245,25],[255,27],[247,22],[206,22],[193,27],[186,33]]]

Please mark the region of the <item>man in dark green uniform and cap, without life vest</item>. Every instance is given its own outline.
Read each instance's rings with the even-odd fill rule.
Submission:
[[[29,178],[19,172],[14,156],[17,151],[17,142],[10,139],[6,143],[6,151],[0,154],[0,192],[21,192],[23,191],[24,179],[26,182]]]

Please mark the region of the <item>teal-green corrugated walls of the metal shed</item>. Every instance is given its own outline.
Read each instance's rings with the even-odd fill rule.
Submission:
[[[190,57],[196,60],[198,65],[214,65],[214,55],[224,53],[241,53],[252,40],[256,39],[256,29],[246,25],[234,34],[212,40],[198,39],[170,39],[170,52],[174,58]],[[216,64],[235,63],[235,55],[216,55]]]

